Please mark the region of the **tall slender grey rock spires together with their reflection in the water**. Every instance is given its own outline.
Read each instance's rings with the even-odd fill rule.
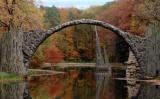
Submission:
[[[100,98],[101,91],[103,91],[105,85],[108,83],[109,77],[111,75],[111,67],[109,65],[109,60],[106,54],[105,48],[102,49],[100,46],[100,40],[95,26],[95,35],[96,35],[96,99]],[[108,72],[100,72],[99,68],[107,68]]]

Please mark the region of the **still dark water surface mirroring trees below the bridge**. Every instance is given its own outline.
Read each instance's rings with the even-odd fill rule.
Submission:
[[[29,81],[0,83],[0,99],[160,99],[160,86],[113,80],[125,72],[70,70],[64,74],[34,76]]]

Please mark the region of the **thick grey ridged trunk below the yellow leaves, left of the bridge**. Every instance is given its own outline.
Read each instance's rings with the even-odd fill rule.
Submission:
[[[1,39],[1,71],[26,74],[22,53],[23,32],[10,27]]]

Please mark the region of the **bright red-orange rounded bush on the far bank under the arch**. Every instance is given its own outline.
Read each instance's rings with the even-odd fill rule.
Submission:
[[[63,60],[63,57],[63,53],[55,45],[46,50],[45,60],[48,63],[58,63]]]

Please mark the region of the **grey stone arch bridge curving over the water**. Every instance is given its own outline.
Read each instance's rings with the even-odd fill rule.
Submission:
[[[121,36],[129,45],[130,49],[134,53],[137,62],[140,66],[141,74],[144,76],[145,74],[145,38],[141,38],[135,35],[132,35],[128,32],[124,32],[121,29],[99,21],[99,20],[93,20],[93,19],[80,19],[80,20],[73,20],[70,22],[63,23],[61,25],[58,25],[54,28],[51,28],[49,30],[34,30],[30,32],[24,32],[23,34],[23,58],[24,58],[24,66],[27,70],[29,66],[29,62],[31,60],[31,57],[39,47],[49,36],[54,34],[55,32],[58,32],[64,28],[74,26],[74,25],[80,25],[80,24],[89,24],[89,25],[96,25],[103,27],[105,29],[108,29],[118,36]]]

